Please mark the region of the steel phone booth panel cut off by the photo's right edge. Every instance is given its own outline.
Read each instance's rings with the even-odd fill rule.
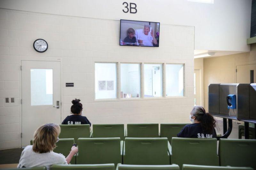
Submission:
[[[250,119],[256,120],[256,83],[250,84]]]

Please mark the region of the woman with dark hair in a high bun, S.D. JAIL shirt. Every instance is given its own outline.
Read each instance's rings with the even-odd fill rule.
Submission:
[[[83,104],[80,103],[79,99],[72,100],[71,112],[73,115],[67,116],[62,125],[81,125],[81,124],[90,124],[90,121],[83,116]]]

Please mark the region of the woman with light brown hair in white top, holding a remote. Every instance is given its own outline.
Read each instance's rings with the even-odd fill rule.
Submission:
[[[60,126],[47,123],[39,127],[34,134],[33,145],[28,145],[22,151],[18,168],[47,166],[53,164],[69,164],[78,149],[72,146],[67,158],[60,153],[53,152],[60,135]]]

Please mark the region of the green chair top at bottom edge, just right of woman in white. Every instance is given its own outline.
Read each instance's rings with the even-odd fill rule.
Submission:
[[[76,170],[76,169],[93,169],[93,170],[115,170],[115,164],[88,164],[88,165],[64,165],[56,164],[51,170]]]

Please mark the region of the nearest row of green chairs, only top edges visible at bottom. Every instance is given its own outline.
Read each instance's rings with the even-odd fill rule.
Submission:
[[[22,168],[29,170],[46,170],[46,167],[32,167],[32,168]],[[87,165],[63,165],[57,164],[53,165],[51,170],[115,170],[115,164],[87,164]],[[250,167],[233,167],[233,166],[200,166],[200,165],[187,165],[182,166],[182,170],[253,170]],[[6,169],[6,170],[17,170]],[[178,165],[124,165],[118,164],[116,170],[180,170]]]

